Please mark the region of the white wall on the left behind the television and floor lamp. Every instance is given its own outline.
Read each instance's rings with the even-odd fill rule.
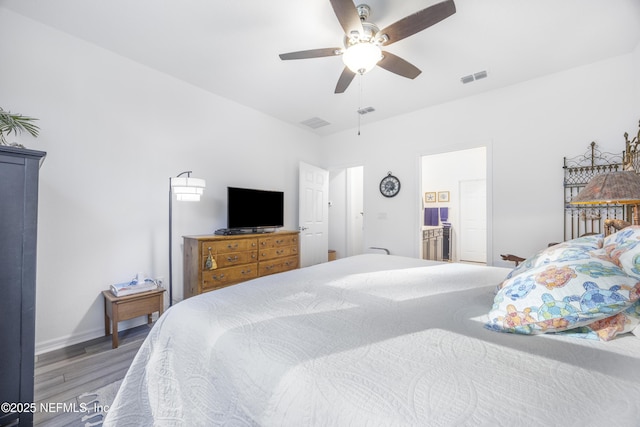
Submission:
[[[318,137],[0,8],[1,106],[40,119],[46,151],[38,224],[39,352],[104,333],[100,291],[137,271],[168,280],[169,177],[207,180],[174,202],[174,298],[181,236],[226,225],[226,186],[285,191],[297,229],[298,162]],[[213,78],[213,76],[212,76]],[[127,325],[123,325],[126,327]]]

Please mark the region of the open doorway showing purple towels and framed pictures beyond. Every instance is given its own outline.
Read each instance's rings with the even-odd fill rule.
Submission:
[[[487,148],[422,156],[422,254],[425,209],[447,212],[451,261],[487,262]],[[434,198],[425,198],[425,195]],[[441,197],[441,194],[445,195]],[[443,209],[444,208],[444,209]],[[440,215],[439,215],[440,216]],[[443,225],[436,219],[435,226]],[[433,218],[429,225],[434,226]]]

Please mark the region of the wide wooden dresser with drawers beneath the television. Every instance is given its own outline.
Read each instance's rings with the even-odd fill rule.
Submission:
[[[184,236],[184,298],[298,268],[298,234]]]

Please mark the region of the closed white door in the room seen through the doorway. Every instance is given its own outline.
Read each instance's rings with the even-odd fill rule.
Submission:
[[[487,184],[460,181],[460,261],[487,262]]]

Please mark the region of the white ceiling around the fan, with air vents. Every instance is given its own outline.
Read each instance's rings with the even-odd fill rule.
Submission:
[[[380,28],[439,0],[363,0]],[[456,0],[457,13],[387,48],[422,70],[379,67],[333,93],[340,57],[279,53],[342,46],[328,0],[0,0],[24,16],[318,135],[632,52],[640,0]],[[358,3],[359,4],[359,3]],[[460,78],[486,70],[488,78]],[[328,126],[300,124],[321,118]]]

